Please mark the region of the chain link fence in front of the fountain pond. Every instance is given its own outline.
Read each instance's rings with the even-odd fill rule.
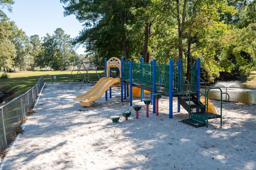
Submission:
[[[206,87],[206,91],[211,88]],[[255,88],[238,88],[238,87],[219,87],[222,90],[222,100],[231,102],[256,104],[256,89]],[[200,91],[204,93],[205,86],[200,87]],[[227,94],[228,95],[227,95]],[[220,100],[220,90],[211,89],[208,93],[209,99]]]

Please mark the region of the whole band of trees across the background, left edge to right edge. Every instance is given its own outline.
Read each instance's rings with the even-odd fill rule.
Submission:
[[[158,63],[200,57],[202,76],[247,75],[256,70],[256,1],[247,0],[60,0],[64,16],[75,15],[84,29],[72,40],[62,28],[27,37],[0,10],[0,67],[67,69],[84,60],[75,45],[86,47],[97,68],[104,58],[121,57]],[[12,10],[13,0],[0,0]],[[166,58],[159,56],[165,51]],[[191,55],[190,55],[191,54]],[[166,61],[164,61],[166,59]],[[159,60],[159,61],[158,61]]]

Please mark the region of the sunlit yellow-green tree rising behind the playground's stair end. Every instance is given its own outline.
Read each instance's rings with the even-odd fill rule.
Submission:
[[[190,79],[190,53],[194,53],[194,57],[204,58],[202,66],[208,73],[220,69],[214,59],[216,51],[220,50],[224,35],[219,28],[225,28],[224,22],[220,21],[220,15],[235,14],[234,7],[228,6],[224,0],[176,0],[173,3],[164,0],[161,4],[162,9],[167,7],[169,13],[166,14],[176,19],[177,38],[174,41],[177,44],[179,58],[183,61],[183,54],[188,53],[186,79]],[[207,62],[217,67],[209,70]],[[209,75],[212,76],[212,73]],[[210,76],[208,78],[213,81],[213,76]]]

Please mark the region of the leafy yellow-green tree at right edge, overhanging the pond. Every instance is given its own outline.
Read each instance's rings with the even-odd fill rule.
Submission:
[[[224,68],[224,73],[240,73],[248,75],[256,70],[256,10],[255,1],[241,1],[238,6],[236,23],[228,32],[225,43],[218,59]]]

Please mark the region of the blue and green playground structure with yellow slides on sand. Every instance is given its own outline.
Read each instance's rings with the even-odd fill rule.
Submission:
[[[111,77],[111,67],[118,67],[120,70],[119,77]],[[219,89],[221,96],[224,93],[217,87],[210,88],[208,91],[206,91],[206,88],[204,91],[200,91],[200,82],[204,82],[205,87],[206,82],[200,78],[199,58],[196,65],[191,65],[190,67],[190,81],[187,81],[185,78],[185,66],[181,65],[180,59],[178,60],[178,65],[173,65],[172,59],[170,59],[169,65],[167,65],[166,63],[156,63],[155,59],[152,63],[144,63],[143,59],[140,60],[140,63],[133,63],[128,60],[124,63],[122,57],[120,60],[112,57],[108,61],[105,58],[105,76],[92,89],[83,95],[78,95],[76,101],[80,101],[80,105],[90,106],[90,102],[99,99],[104,92],[107,101],[107,89],[109,88],[111,98],[111,86],[114,83],[121,83],[121,102],[126,97],[129,97],[129,94],[133,94],[133,88],[129,87],[138,87],[141,89],[141,101],[144,98],[144,90],[151,92],[153,113],[156,113],[156,98],[158,99],[158,97],[153,97],[153,94],[169,97],[170,119],[172,119],[173,113],[173,97],[178,97],[178,112],[180,112],[180,105],[182,105],[189,113],[189,118],[182,120],[183,123],[194,127],[208,127],[208,119],[220,118],[220,126],[222,126],[222,99],[220,100],[220,114],[217,114],[214,105],[208,99],[208,92],[211,89]],[[110,78],[112,79],[110,80]],[[130,106],[132,106],[132,97],[130,95]]]

